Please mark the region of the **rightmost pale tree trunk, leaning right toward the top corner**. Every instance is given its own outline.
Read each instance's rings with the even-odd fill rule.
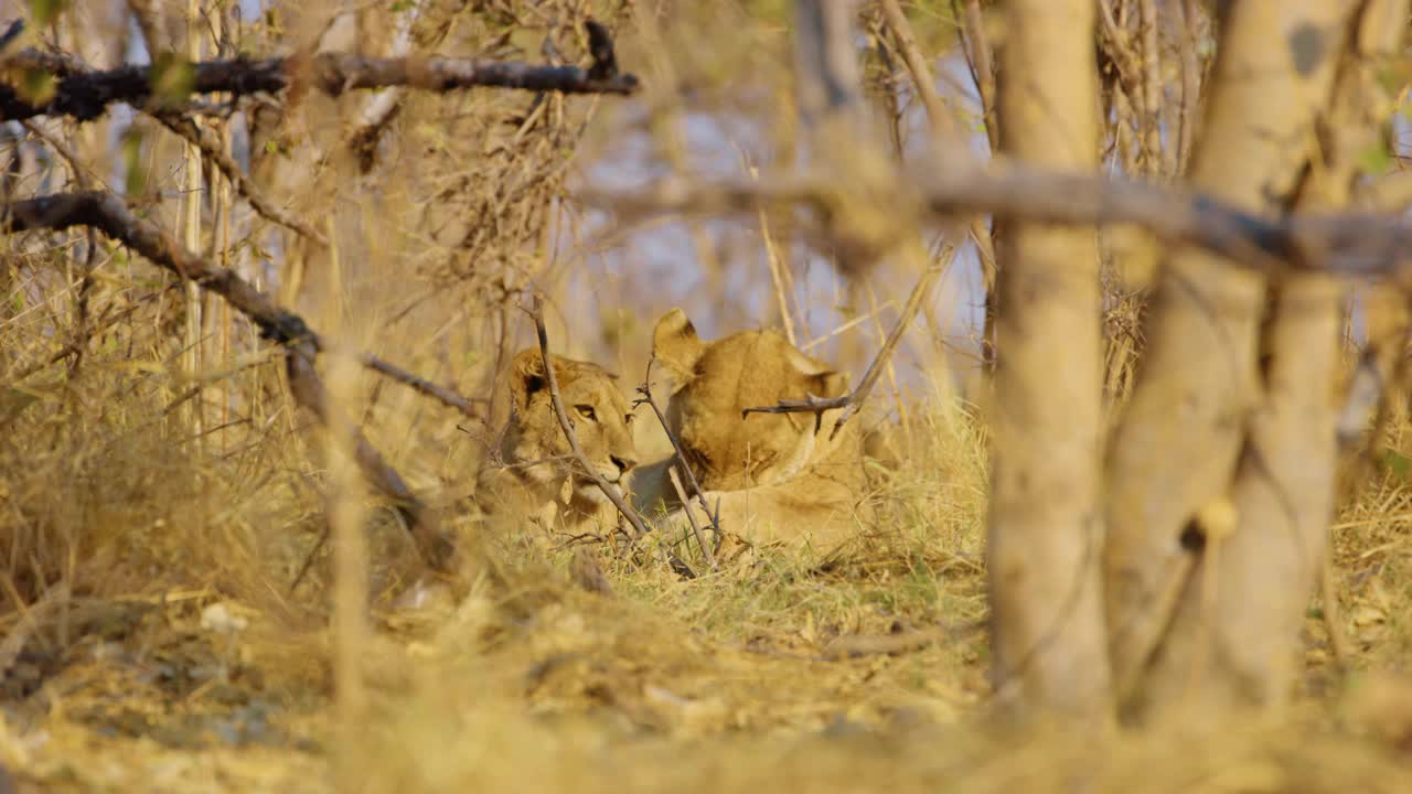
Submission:
[[[1406,13],[1406,0],[1363,3],[1346,47],[1348,27],[1330,18],[1333,11],[1320,11],[1319,24],[1333,40],[1324,49],[1332,58],[1348,54],[1339,65],[1333,102],[1319,119],[1320,147],[1296,209],[1348,203],[1360,157],[1377,146],[1391,107],[1380,96],[1375,58],[1394,52]],[[1178,699],[1204,715],[1231,705],[1278,709],[1298,670],[1299,626],[1333,513],[1343,285],[1306,274],[1271,292],[1264,396],[1248,418],[1230,490],[1234,531],[1224,540],[1207,538],[1148,675],[1145,701],[1158,709]],[[1186,692],[1193,678],[1199,685]]]

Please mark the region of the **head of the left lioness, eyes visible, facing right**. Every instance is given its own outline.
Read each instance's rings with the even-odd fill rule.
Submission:
[[[637,465],[633,410],[603,367],[554,356],[563,411],[585,456],[604,480],[617,487]],[[572,507],[592,513],[609,503],[593,478],[572,461],[569,439],[554,414],[544,357],[535,348],[521,350],[510,366],[510,425],[501,441],[508,472],[534,496],[558,499],[568,490]]]

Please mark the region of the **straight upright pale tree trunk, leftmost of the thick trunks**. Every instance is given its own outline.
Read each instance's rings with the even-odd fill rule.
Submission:
[[[1099,164],[1094,0],[1011,0],[1001,150]],[[1091,229],[1008,225],[1000,250],[988,576],[994,677],[1027,715],[1104,719],[1100,291]]]

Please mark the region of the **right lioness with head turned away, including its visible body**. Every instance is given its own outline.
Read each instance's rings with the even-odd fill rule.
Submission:
[[[652,356],[675,381],[666,425],[682,445],[727,533],[753,543],[808,543],[830,551],[867,517],[863,439],[854,424],[830,438],[837,411],[748,414],[808,394],[837,397],[847,376],[799,352],[772,331],[746,331],[703,342],[682,309],[652,332]],[[644,466],[637,502],[648,517],[668,511],[685,526],[683,506],[668,479],[675,459]],[[682,478],[682,486],[686,485]],[[699,510],[698,510],[699,514]]]

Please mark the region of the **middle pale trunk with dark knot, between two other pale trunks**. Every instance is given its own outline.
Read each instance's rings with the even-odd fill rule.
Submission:
[[[1309,161],[1315,116],[1329,96],[1341,51],[1341,6],[1326,0],[1224,6],[1210,106],[1192,162],[1196,189],[1271,215],[1293,205]],[[1258,274],[1237,273],[1219,257],[1180,250],[1163,268],[1148,314],[1145,360],[1107,462],[1110,535],[1104,554],[1113,671],[1120,698],[1130,701],[1125,705],[1138,718],[1173,705],[1190,675],[1200,674],[1183,654],[1165,646],[1178,603],[1185,605],[1183,620],[1197,623],[1199,608],[1211,606],[1202,600],[1193,575],[1204,572],[1196,571],[1200,540],[1240,520],[1230,514],[1233,502],[1250,506],[1257,499],[1250,490],[1257,486],[1237,472],[1284,452],[1255,441],[1250,455],[1258,458],[1241,455],[1247,424],[1272,421],[1258,415],[1267,408],[1261,404],[1258,356],[1265,287]],[[1303,292],[1291,294],[1291,300],[1309,301]],[[1320,321],[1295,322],[1298,326],[1272,328],[1272,340],[1312,343],[1322,333]],[[1272,381],[1308,377],[1281,366],[1271,372]],[[1327,384],[1299,383],[1309,390]],[[1252,438],[1264,435],[1267,431],[1257,429]],[[1264,463],[1268,472],[1272,462]],[[1233,478],[1240,479],[1234,492]],[[1236,531],[1243,533],[1244,526]],[[1214,540],[1210,550],[1226,545],[1227,557],[1248,562],[1247,554],[1236,550],[1244,543]],[[1265,576],[1262,567],[1257,562],[1247,574],[1268,588],[1299,586]],[[1173,627],[1172,637],[1183,637],[1183,626]],[[1144,689],[1145,697],[1134,698]]]

